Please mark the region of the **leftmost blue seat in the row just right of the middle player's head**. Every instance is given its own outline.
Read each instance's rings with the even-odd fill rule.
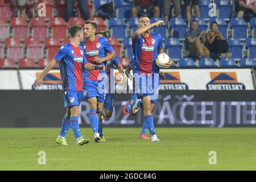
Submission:
[[[126,24],[123,18],[110,18],[109,28],[112,30],[111,33],[114,38],[126,38]]]

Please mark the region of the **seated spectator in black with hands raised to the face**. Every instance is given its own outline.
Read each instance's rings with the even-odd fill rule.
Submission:
[[[207,34],[207,42],[209,44],[210,53],[220,53],[221,57],[232,57],[229,51],[228,43],[225,37],[218,30],[218,23],[210,24],[210,31]]]

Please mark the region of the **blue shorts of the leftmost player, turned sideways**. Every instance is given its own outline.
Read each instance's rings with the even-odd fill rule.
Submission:
[[[82,100],[82,91],[63,90],[64,107],[79,106]]]

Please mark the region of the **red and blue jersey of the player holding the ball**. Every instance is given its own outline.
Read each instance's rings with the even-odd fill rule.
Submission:
[[[159,34],[150,32],[147,37],[141,35],[133,40],[133,53],[136,73],[159,73],[155,63],[158,49],[163,48],[163,39]]]

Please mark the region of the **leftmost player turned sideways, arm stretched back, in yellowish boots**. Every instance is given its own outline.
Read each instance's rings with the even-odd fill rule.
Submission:
[[[67,108],[67,112],[63,118],[61,131],[59,137],[57,137],[56,143],[67,146],[67,140],[65,135],[70,127],[72,127],[73,134],[77,144],[83,145],[89,142],[89,139],[81,137],[79,130],[79,105],[82,98],[82,69],[88,70],[105,70],[104,65],[93,65],[87,63],[84,49],[79,46],[80,42],[84,39],[84,32],[81,26],[71,26],[68,29],[71,35],[71,42],[61,46],[56,53],[54,59],[44,68],[43,72],[38,78],[36,78],[34,85],[40,86],[43,82],[44,76],[56,64],[60,63],[60,75],[63,86],[64,94],[64,107]]]

